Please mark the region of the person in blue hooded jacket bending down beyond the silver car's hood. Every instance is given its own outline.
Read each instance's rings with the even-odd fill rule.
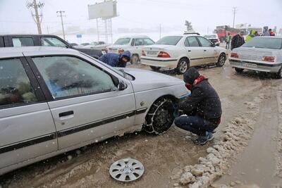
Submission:
[[[128,61],[130,61],[130,51],[124,51],[123,54],[104,54],[99,58],[99,61],[103,61],[112,67],[125,67]]]

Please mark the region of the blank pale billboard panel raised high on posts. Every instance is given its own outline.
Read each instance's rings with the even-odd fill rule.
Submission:
[[[99,4],[88,5],[88,18],[114,18],[116,13],[116,1],[105,1]]]

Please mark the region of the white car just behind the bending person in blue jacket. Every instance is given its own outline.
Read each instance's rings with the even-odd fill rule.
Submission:
[[[124,51],[130,51],[131,63],[137,63],[140,61],[142,54],[142,47],[152,45],[154,41],[147,36],[130,36],[119,38],[113,45],[108,46],[108,52],[118,54],[119,49]]]

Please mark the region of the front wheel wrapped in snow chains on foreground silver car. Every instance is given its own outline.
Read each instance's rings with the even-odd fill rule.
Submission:
[[[173,124],[173,102],[162,98],[154,102],[146,115],[144,130],[149,133],[162,134]]]

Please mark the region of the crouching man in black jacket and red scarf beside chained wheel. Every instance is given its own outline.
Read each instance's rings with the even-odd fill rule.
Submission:
[[[185,115],[176,118],[174,124],[197,134],[194,143],[204,145],[214,139],[212,133],[221,122],[221,101],[207,78],[200,75],[197,69],[189,68],[183,80],[191,94],[178,104]]]

